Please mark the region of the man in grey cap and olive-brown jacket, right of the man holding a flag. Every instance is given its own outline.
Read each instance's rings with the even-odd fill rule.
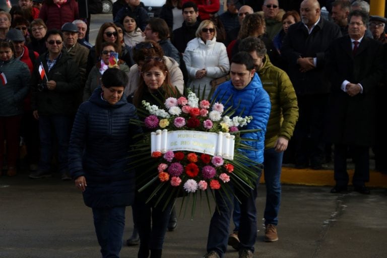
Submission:
[[[78,28],[75,24],[67,22],[62,26],[63,50],[78,64],[79,75],[82,83],[86,82],[86,65],[89,49],[78,43]]]

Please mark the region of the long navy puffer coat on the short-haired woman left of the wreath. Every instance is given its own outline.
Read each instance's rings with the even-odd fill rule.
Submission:
[[[69,169],[73,178],[86,177],[86,206],[109,208],[132,205],[135,172],[127,166],[132,137],[141,128],[129,124],[138,119],[126,97],[110,105],[97,88],[78,109],[69,146]]]

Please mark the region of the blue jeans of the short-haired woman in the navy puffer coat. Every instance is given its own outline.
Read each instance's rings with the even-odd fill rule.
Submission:
[[[125,227],[125,207],[93,208],[94,227],[103,258],[118,258]]]

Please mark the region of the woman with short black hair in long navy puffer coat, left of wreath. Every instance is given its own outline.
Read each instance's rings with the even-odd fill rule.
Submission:
[[[119,256],[125,207],[135,197],[135,171],[127,166],[127,152],[141,127],[130,123],[138,117],[123,96],[127,80],[119,69],[104,72],[101,88],[78,109],[69,145],[69,169],[85,205],[93,210],[104,258]]]

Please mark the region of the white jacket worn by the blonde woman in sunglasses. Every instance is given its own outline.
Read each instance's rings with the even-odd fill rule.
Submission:
[[[206,43],[201,38],[189,41],[184,51],[183,60],[189,77],[188,86],[195,87],[196,90],[200,86],[201,91],[206,86],[206,98],[211,90],[210,82],[230,72],[226,46],[216,42],[215,37],[212,40],[207,40]],[[202,79],[196,79],[196,72],[202,69],[206,69],[207,75]]]

